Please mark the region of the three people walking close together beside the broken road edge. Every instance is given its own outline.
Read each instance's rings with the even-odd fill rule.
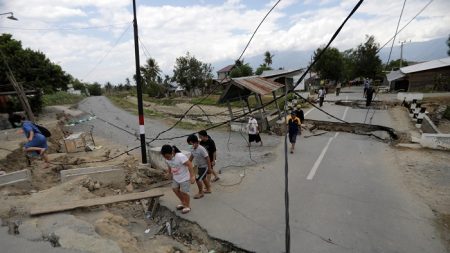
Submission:
[[[205,194],[211,194],[211,183],[220,180],[214,170],[216,162],[217,148],[212,138],[205,130],[197,135],[189,135],[187,144],[190,148],[190,156],[187,157],[176,146],[164,145],[161,148],[161,155],[166,159],[168,174],[172,178],[172,190],[180,200],[177,210],[183,214],[191,211],[190,206],[190,185],[197,183],[198,193],[194,199],[200,199]],[[194,162],[197,167],[197,174],[194,173]],[[212,178],[214,176],[214,178]]]

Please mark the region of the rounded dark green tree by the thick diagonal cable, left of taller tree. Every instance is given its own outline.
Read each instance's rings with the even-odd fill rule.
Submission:
[[[337,48],[330,47],[325,50],[320,58],[319,54],[323,52],[320,47],[314,52],[314,60],[317,60],[313,66],[320,78],[333,81],[340,81],[343,77],[343,58]]]

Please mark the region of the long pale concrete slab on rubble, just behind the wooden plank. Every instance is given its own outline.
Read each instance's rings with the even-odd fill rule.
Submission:
[[[80,176],[89,176],[103,185],[123,186],[125,184],[125,171],[119,166],[88,167],[61,171],[62,182]]]

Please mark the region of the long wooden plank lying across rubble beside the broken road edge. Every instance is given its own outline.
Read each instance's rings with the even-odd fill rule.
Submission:
[[[93,207],[93,206],[101,206],[107,204],[113,204],[124,201],[133,201],[140,200],[146,198],[155,198],[161,197],[164,193],[161,192],[160,189],[152,189],[145,192],[137,192],[137,193],[129,193],[123,195],[114,195],[103,198],[94,198],[94,199],[83,199],[83,200],[74,200],[70,202],[61,202],[61,203],[47,203],[39,206],[35,206],[31,208],[30,215],[39,215],[46,213],[56,213],[62,211],[73,210],[80,207]]]

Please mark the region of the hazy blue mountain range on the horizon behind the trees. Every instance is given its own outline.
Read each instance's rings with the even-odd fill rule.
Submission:
[[[424,42],[410,42],[403,45],[403,59],[407,61],[423,62],[447,57],[447,37],[442,37],[434,40]],[[400,58],[400,45],[396,45],[392,49],[391,60]],[[385,63],[388,59],[390,51],[390,44],[386,45],[379,53],[381,60]],[[309,51],[271,51],[275,55],[273,60],[273,68],[283,67],[285,69],[304,68],[311,61],[313,50]],[[264,61],[264,52],[261,55],[248,57],[244,55],[244,60],[253,67],[256,68]],[[214,62],[212,65],[214,71],[217,71],[228,64],[233,64],[233,60],[223,60]]]

